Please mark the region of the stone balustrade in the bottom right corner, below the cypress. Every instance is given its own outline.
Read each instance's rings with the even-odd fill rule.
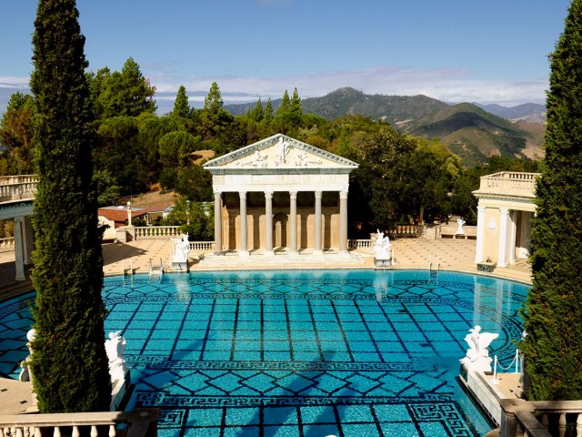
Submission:
[[[582,437],[582,401],[500,401],[501,437]]]

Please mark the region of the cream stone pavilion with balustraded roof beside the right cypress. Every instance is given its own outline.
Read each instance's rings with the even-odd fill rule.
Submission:
[[[479,189],[473,191],[478,199],[476,263],[507,267],[528,257],[539,176],[502,171],[481,177]]]

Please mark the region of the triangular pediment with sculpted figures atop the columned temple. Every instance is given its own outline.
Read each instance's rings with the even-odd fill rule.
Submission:
[[[204,165],[206,169],[269,170],[302,168],[357,168],[355,162],[326,150],[310,146],[295,138],[276,134],[235,150]]]

